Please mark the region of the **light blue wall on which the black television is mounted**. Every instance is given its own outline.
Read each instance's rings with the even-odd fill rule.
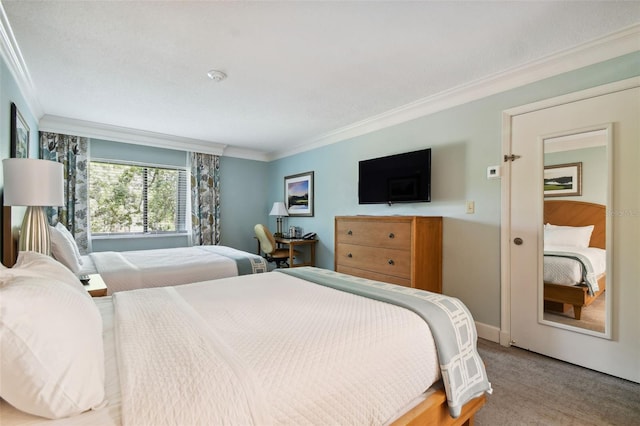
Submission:
[[[336,215],[444,216],[443,292],[460,298],[477,321],[499,327],[500,180],[487,180],[486,169],[502,163],[502,111],[637,75],[640,53],[274,161],[269,199],[282,199],[284,176],[315,172],[315,216],[288,224],[318,233],[317,264],[330,269]],[[359,160],[424,147],[432,148],[431,203],[358,205]],[[467,200],[475,201],[475,214],[465,214]]]

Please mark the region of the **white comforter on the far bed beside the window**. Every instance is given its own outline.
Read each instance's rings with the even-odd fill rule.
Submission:
[[[147,287],[187,284],[240,275],[234,257],[248,257],[253,273],[265,272],[263,258],[224,246],[193,246],[90,253],[108,294]],[[90,273],[84,270],[83,273]]]

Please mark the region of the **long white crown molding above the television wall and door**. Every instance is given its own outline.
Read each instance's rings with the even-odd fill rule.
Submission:
[[[493,74],[487,78],[465,83],[433,96],[419,99],[307,140],[296,147],[288,148],[286,151],[274,151],[268,157],[272,161],[325,145],[331,145],[637,51],[640,51],[640,24],[632,25],[605,37],[557,52],[525,65]]]

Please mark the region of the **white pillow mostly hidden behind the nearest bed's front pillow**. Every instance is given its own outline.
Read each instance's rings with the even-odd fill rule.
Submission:
[[[60,281],[91,299],[91,295],[80,279],[63,264],[46,254],[21,251],[13,268],[6,269],[3,273],[8,277],[40,277]]]

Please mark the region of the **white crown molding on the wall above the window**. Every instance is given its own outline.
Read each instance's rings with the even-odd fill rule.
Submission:
[[[223,155],[227,148],[227,145],[215,142],[112,126],[92,121],[76,120],[55,115],[45,115],[42,117],[39,127],[42,132],[56,132],[87,138],[106,139],[115,142],[148,145],[181,151],[195,151],[213,155]]]

